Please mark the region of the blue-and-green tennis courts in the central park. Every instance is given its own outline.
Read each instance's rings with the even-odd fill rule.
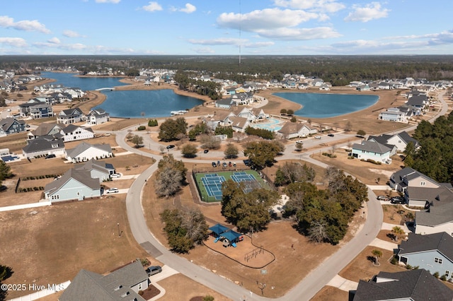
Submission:
[[[222,200],[222,183],[226,179],[232,179],[234,182],[241,184],[245,193],[251,192],[257,188],[268,188],[263,179],[254,170],[245,170],[241,172],[198,172],[195,174],[195,183],[202,201],[221,201]]]

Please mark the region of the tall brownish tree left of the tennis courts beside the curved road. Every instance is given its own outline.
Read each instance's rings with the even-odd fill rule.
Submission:
[[[157,167],[156,182],[154,182],[156,194],[165,197],[176,194],[186,180],[187,168],[183,161],[175,160],[171,154],[164,155]]]

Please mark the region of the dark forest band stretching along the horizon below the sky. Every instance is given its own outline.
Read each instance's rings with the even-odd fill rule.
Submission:
[[[417,56],[3,56],[0,69],[24,73],[36,67],[173,69],[206,73],[238,83],[282,79],[285,73],[323,78],[332,85],[389,78],[453,79],[452,55]]]

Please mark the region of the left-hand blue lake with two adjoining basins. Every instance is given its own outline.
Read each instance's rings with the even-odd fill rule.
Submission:
[[[126,85],[120,78],[113,77],[78,77],[76,73],[42,72],[41,76],[56,80],[52,85],[81,88],[81,90],[96,90],[98,88],[113,88]],[[171,111],[191,109],[203,103],[202,100],[178,95],[173,90],[104,90],[107,97],[96,108],[102,108],[111,117],[139,118],[168,117]]]

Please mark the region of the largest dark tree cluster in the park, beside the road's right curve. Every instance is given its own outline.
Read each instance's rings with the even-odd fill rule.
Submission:
[[[311,241],[338,244],[354,213],[368,201],[367,187],[335,167],[328,167],[326,179],[328,189],[309,182],[289,184],[285,215],[295,216],[297,229]]]

